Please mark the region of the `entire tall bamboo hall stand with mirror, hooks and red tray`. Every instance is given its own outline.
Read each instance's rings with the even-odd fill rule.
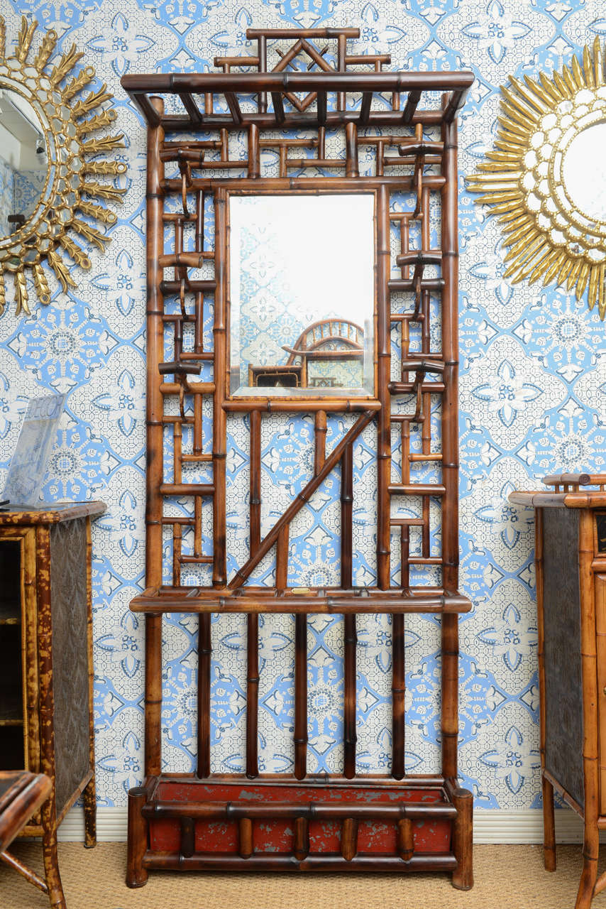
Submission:
[[[145,884],[151,869],[425,870],[472,886],[472,794],[457,780],[458,615],[471,603],[458,591],[456,117],[473,76],[385,72],[387,55],[349,52],[358,34],[249,29],[256,53],[217,58],[220,72],[122,80],[147,125],[146,589],[131,603],[145,615],[145,778],[129,793],[132,887]],[[371,174],[362,173],[363,156],[373,158]],[[345,300],[342,315],[318,313],[288,344],[281,341],[280,363],[247,368],[233,356],[240,344],[233,326],[243,330],[230,271],[240,249],[234,200],[261,205],[268,196],[275,212],[289,199],[366,200],[370,310],[362,326]],[[212,232],[205,232],[208,218]],[[314,255],[300,255],[304,270],[313,269]],[[332,268],[350,265],[335,255]],[[338,291],[333,297],[336,305]],[[211,304],[212,340],[205,328]],[[400,355],[392,357],[394,333]],[[350,388],[343,375],[361,368],[363,378],[358,385],[349,379]],[[205,432],[209,411],[212,431]],[[263,535],[262,428],[276,413],[311,417],[313,466]],[[228,574],[227,424],[238,414],[247,415],[248,549]],[[348,417],[329,450],[334,414]],[[376,440],[376,581],[362,587],[353,569],[353,451],[367,427]],[[397,469],[394,446],[402,451]],[[193,468],[205,478],[187,482]],[[335,473],[340,583],[294,586],[293,519]],[[394,514],[398,497],[420,502],[419,516]],[[175,498],[187,508],[175,513]],[[212,552],[203,544],[205,505],[213,514]],[[260,586],[251,578],[268,555],[273,585]],[[418,580],[421,570],[433,573],[429,582]],[[194,571],[201,580],[185,581]],[[356,767],[356,615],[377,612],[392,615],[386,775]],[[189,774],[163,767],[162,630],[170,613],[198,616],[197,755]],[[246,614],[242,774],[211,772],[213,613]],[[293,768],[286,774],[259,768],[259,615],[269,613],[294,616]],[[322,613],[343,615],[338,774],[308,766],[308,616]],[[432,774],[409,774],[404,764],[404,634],[407,614],[419,613],[437,616],[442,627],[442,765]]]

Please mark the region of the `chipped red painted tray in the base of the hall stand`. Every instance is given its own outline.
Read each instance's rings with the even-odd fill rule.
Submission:
[[[398,804],[427,803],[449,804],[441,789],[396,788],[360,786],[314,786],[300,784],[256,785],[243,783],[200,784],[162,782],[154,800],[175,804],[263,804],[275,803],[350,803]],[[310,854],[339,853],[341,850],[341,822],[338,820],[311,820],[309,822]],[[448,819],[431,817],[412,823],[414,850],[417,853],[445,853],[451,846],[451,826]],[[294,821],[292,818],[253,820],[253,848],[255,854],[291,854],[293,852]],[[181,848],[181,822],[164,818],[150,820],[150,847],[153,852],[178,853]],[[238,822],[231,820],[196,821],[196,853],[238,854]],[[357,854],[396,854],[396,824],[391,821],[361,820],[358,826]]]

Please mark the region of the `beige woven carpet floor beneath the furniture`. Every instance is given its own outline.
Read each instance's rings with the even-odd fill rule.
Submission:
[[[13,852],[40,868],[37,844],[14,844]],[[67,909],[573,909],[582,859],[581,846],[559,846],[558,870],[548,874],[541,846],[477,845],[475,886],[466,893],[443,874],[153,872],[145,887],[128,890],[125,861],[124,843],[60,843]],[[606,893],[593,905],[606,909]],[[0,906],[47,909],[48,900],[2,865]]]

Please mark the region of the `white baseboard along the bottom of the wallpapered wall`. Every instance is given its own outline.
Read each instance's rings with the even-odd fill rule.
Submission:
[[[569,808],[555,813],[558,843],[582,843],[582,822]],[[100,843],[124,843],[126,808],[97,809],[97,838]],[[73,808],[59,828],[59,840],[80,843],[84,840],[84,813]],[[542,813],[478,809],[473,814],[474,843],[542,843]]]

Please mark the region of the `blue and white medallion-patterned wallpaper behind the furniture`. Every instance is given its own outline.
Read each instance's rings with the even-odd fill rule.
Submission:
[[[98,792],[123,805],[143,773],[143,630],[128,611],[144,569],[144,129],[118,79],[127,72],[203,70],[214,55],[245,53],[249,25],[359,25],[356,51],[392,54],[398,68],[472,67],[476,82],[461,118],[461,552],[462,590],[474,611],[461,623],[461,771],[478,808],[539,804],[537,634],[531,514],[507,494],[556,470],[604,469],[606,334],[597,313],[560,290],[502,277],[500,235],[474,205],[470,173],[496,131],[498,85],[511,73],[560,67],[595,35],[606,37],[602,0],[0,0],[8,35],[18,17],[35,16],[75,42],[99,83],[116,95],[127,148],[128,192],[105,255],[90,251],[92,271],[78,289],[56,293],[48,308],[0,319],[0,466],[15,445],[29,395],[65,391],[48,498],[103,498],[94,528],[94,662]],[[331,438],[346,421],[334,417]],[[246,427],[233,422],[228,471],[231,568],[246,544]],[[311,425],[263,420],[264,521],[301,488],[312,458]],[[373,431],[356,448],[354,544],[358,583],[373,578],[375,478]],[[0,476],[0,482],[2,476]],[[293,528],[293,572],[310,584],[333,579],[338,509],[327,481]],[[260,565],[265,576],[270,567]],[[305,583],[303,582],[303,583]],[[343,655],[339,619],[310,623],[310,739],[319,768],[340,761]],[[360,623],[359,764],[389,766],[390,625]],[[438,628],[408,625],[407,765],[437,760]],[[194,622],[165,624],[164,742],[172,769],[192,766]],[[214,768],[243,760],[243,623],[214,623]],[[263,770],[292,760],[293,628],[266,617],[262,636]],[[313,765],[313,761],[310,761]]]

